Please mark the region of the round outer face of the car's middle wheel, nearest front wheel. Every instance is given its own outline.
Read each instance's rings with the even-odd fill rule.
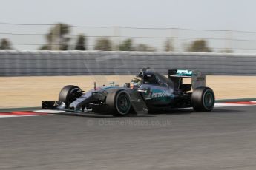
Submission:
[[[125,93],[122,93],[121,95],[119,95],[119,97],[116,100],[116,109],[118,110],[118,112],[124,115],[128,113],[128,111],[130,110],[130,107],[131,107],[131,103],[128,98],[128,95],[126,95]]]

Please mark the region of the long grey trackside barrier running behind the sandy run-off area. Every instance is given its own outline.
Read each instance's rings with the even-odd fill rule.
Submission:
[[[256,75],[256,54],[0,50],[0,76],[131,75],[143,67],[206,75]]]

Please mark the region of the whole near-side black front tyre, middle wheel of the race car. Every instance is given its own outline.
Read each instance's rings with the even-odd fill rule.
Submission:
[[[125,116],[131,109],[130,95],[125,90],[119,89],[109,92],[106,98],[108,113],[113,116]]]

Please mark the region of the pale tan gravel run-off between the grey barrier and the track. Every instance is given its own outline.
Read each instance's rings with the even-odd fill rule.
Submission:
[[[73,84],[83,90],[108,85],[110,82],[124,84],[133,75],[86,75],[52,77],[1,77],[0,108],[40,106],[41,101],[57,100],[63,86]],[[207,76],[207,86],[214,89],[217,99],[256,98],[255,76]]]

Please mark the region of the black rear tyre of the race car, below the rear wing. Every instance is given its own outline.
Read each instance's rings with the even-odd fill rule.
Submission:
[[[211,112],[214,108],[215,96],[214,92],[209,87],[198,87],[192,92],[191,105],[194,111]]]

